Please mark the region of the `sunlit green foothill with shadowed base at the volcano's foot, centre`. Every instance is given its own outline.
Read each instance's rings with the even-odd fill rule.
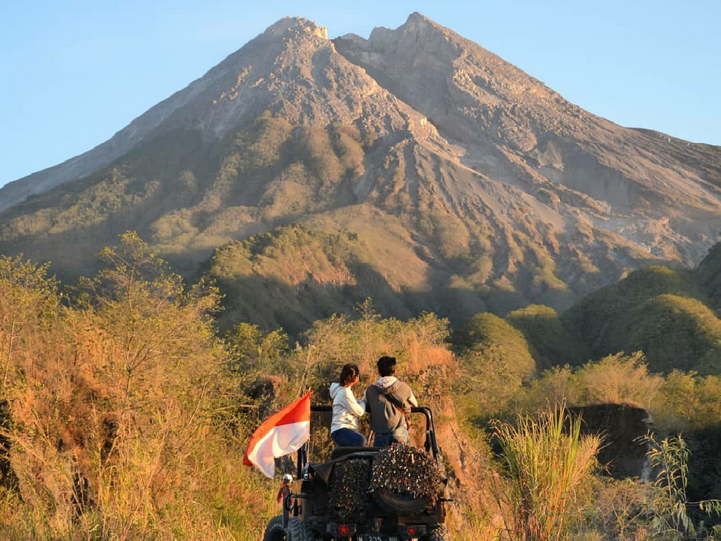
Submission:
[[[394,317],[438,312],[464,320],[485,311],[482,296],[452,272],[429,263],[400,219],[369,205],[230,242],[204,268],[225,295],[221,325],[247,321],[291,335],[368,298]]]

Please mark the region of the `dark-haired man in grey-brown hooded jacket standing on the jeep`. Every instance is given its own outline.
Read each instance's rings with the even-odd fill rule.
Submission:
[[[371,413],[371,430],[376,434],[376,447],[408,443],[408,422],[411,406],[417,406],[412,390],[395,377],[395,357],[378,359],[380,378],[366,390],[366,405]]]

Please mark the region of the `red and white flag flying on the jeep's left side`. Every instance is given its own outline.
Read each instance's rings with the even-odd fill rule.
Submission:
[[[273,478],[275,458],[297,451],[311,436],[311,392],[271,415],[250,436],[243,464]]]

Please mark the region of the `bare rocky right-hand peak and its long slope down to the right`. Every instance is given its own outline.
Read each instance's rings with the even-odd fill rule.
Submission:
[[[708,248],[697,241],[718,232],[718,148],[591,115],[419,14],[335,43],[432,119],[462,164],[533,195],[566,226],[604,229],[684,263],[697,263]],[[704,219],[715,224],[707,232]]]

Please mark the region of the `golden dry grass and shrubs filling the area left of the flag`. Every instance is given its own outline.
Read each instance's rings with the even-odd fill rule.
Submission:
[[[268,483],[240,463],[243,435],[227,428],[212,291],[185,294],[133,265],[62,309],[48,283],[19,289],[0,273],[3,539],[257,539],[260,515],[275,514]],[[23,311],[18,299],[32,302]]]

